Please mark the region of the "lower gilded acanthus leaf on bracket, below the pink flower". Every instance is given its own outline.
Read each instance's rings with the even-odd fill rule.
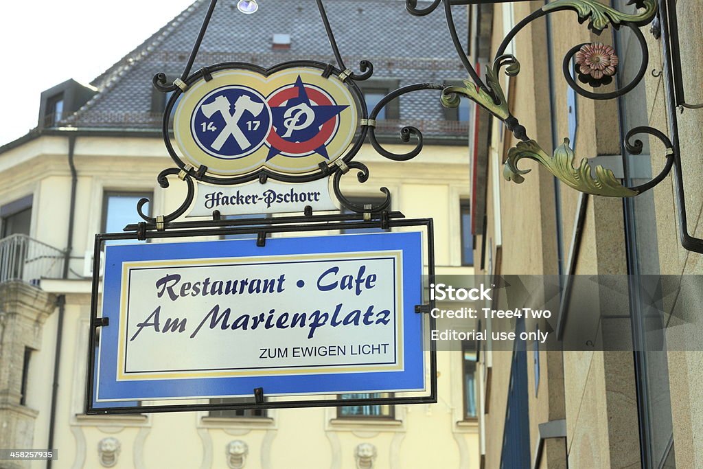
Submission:
[[[508,160],[503,167],[503,177],[517,184],[522,183],[522,174],[527,174],[531,169],[518,169],[517,162],[522,158],[529,158],[540,162],[554,176],[576,191],[593,195],[607,195],[609,197],[633,197],[633,191],[619,183],[610,169],[601,165],[595,167],[595,177],[592,176],[591,165],[588,159],[583,158],[578,168],[574,167],[574,151],[569,148],[569,139],[554,150],[552,158],[545,153],[534,140],[519,142],[517,146],[508,150]]]

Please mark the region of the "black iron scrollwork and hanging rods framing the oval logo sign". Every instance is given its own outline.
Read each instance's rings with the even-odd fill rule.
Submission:
[[[436,3],[437,5],[439,5],[439,1],[437,1]],[[161,91],[162,93],[170,93],[162,118],[162,137],[169,155],[176,164],[176,168],[167,169],[162,172],[162,174],[160,174],[158,179],[159,184],[163,188],[166,188],[169,184],[166,180],[166,176],[176,174],[178,174],[180,179],[183,179],[183,181],[186,181],[186,183],[188,184],[188,194],[186,195],[186,200],[175,212],[162,217],[162,219],[165,221],[164,226],[168,226],[170,221],[173,221],[174,219],[183,215],[186,212],[187,208],[191,205],[195,193],[193,188],[194,181],[200,181],[206,184],[214,185],[231,185],[242,184],[256,179],[259,179],[259,181],[262,183],[264,183],[269,178],[284,182],[305,182],[314,181],[316,179],[321,179],[327,176],[333,176],[331,178],[333,193],[335,193],[335,196],[337,197],[337,200],[339,200],[340,205],[342,205],[342,207],[349,210],[350,212],[382,212],[384,210],[389,209],[390,193],[387,188],[380,188],[380,191],[385,194],[385,200],[380,204],[359,205],[356,203],[352,203],[352,201],[348,197],[344,196],[344,194],[342,193],[342,189],[340,187],[342,176],[346,174],[349,169],[356,169],[359,171],[357,174],[357,180],[360,183],[366,182],[368,180],[368,167],[359,162],[352,161],[354,156],[359,153],[359,150],[361,150],[361,146],[366,141],[367,136],[368,142],[371,144],[371,146],[373,146],[373,148],[375,148],[375,150],[384,158],[388,158],[389,160],[394,161],[406,161],[415,158],[415,156],[417,156],[423,148],[423,135],[419,129],[413,126],[403,127],[400,130],[400,140],[402,142],[408,142],[411,141],[412,138],[414,140],[415,146],[411,148],[411,150],[408,150],[408,152],[406,153],[392,153],[391,151],[383,148],[379,143],[375,133],[375,119],[388,103],[390,103],[394,99],[399,98],[399,96],[401,95],[420,90],[437,90],[438,92],[441,92],[446,89],[446,84],[418,83],[403,86],[400,89],[391,91],[389,94],[387,94],[387,96],[382,98],[378,105],[376,105],[375,108],[373,110],[370,110],[369,112],[369,110],[366,108],[366,100],[363,97],[363,93],[359,89],[359,86],[356,85],[356,82],[368,79],[373,75],[373,63],[371,63],[370,60],[361,60],[359,63],[359,72],[354,72],[351,69],[347,68],[347,65],[345,65],[344,60],[342,59],[342,54],[340,53],[339,47],[337,46],[337,41],[333,34],[333,30],[328,20],[327,13],[325,12],[325,7],[323,5],[322,0],[316,0],[316,4],[318,6],[318,11],[323,20],[325,32],[327,33],[328,39],[330,41],[330,46],[332,48],[333,56],[336,61],[336,66],[325,63],[311,62],[307,60],[299,60],[297,62],[292,63],[283,63],[280,65],[276,65],[275,67],[270,69],[263,69],[258,67],[257,65],[248,63],[220,63],[210,65],[208,67],[202,68],[200,70],[197,70],[196,72],[191,73],[191,68],[193,67],[195,56],[198,53],[198,49],[200,49],[200,43],[202,41],[202,38],[205,36],[207,26],[209,24],[210,18],[212,17],[212,12],[214,11],[214,7],[216,4],[217,0],[210,0],[207,13],[200,27],[200,32],[198,33],[198,37],[195,40],[195,44],[193,44],[191,56],[188,58],[188,62],[186,63],[186,67],[183,70],[181,77],[176,78],[173,83],[169,83],[164,73],[157,73],[152,80],[155,89]],[[456,31],[453,34],[455,34],[456,36]],[[458,38],[455,37],[454,39],[458,41]],[[466,57],[464,57],[464,60],[466,60],[466,63],[468,63],[468,59]],[[249,174],[244,174],[243,176],[226,177],[222,176],[221,174],[214,174],[212,171],[209,170],[209,168],[204,165],[201,165],[197,169],[193,168],[191,165],[189,165],[186,160],[184,160],[181,155],[179,155],[178,152],[176,152],[176,149],[172,144],[172,139],[170,135],[173,125],[171,116],[174,111],[174,108],[179,102],[179,98],[181,98],[181,96],[183,96],[183,94],[186,93],[188,88],[192,86],[195,82],[198,82],[200,79],[203,78],[207,81],[208,79],[212,79],[212,75],[214,73],[217,73],[220,70],[227,70],[230,68],[252,70],[253,72],[257,72],[261,75],[267,76],[275,73],[281,68],[285,68],[291,65],[323,69],[323,77],[330,77],[332,75],[335,75],[335,77],[338,77],[342,82],[344,82],[344,84],[347,84],[354,96],[356,96],[357,105],[359,105],[360,110],[359,114],[361,117],[359,121],[359,131],[356,136],[356,139],[354,139],[354,142],[352,143],[352,146],[350,146],[349,150],[347,150],[347,153],[345,153],[342,158],[335,162],[330,162],[330,164],[327,165],[321,164],[319,169],[302,175],[291,176],[288,174],[279,174],[267,169],[266,167],[262,167],[253,172],[250,172]],[[475,73],[472,76],[480,82],[480,78]],[[492,91],[485,84],[482,84],[482,91],[484,93],[488,92],[491,94],[491,96],[494,96],[494,91]],[[448,94],[447,96],[447,99],[452,99],[451,95]],[[451,102],[455,103],[453,105],[458,105],[458,99],[453,100]],[[140,201],[138,205],[138,213],[148,224],[153,225],[156,219],[154,217],[149,217],[148,215],[143,213],[143,206],[146,204],[146,202],[147,200]]]

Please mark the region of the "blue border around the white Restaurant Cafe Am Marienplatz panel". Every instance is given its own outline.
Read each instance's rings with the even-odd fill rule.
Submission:
[[[370,233],[304,238],[271,238],[266,248],[255,240],[221,240],[189,243],[110,245],[105,250],[103,318],[110,326],[101,328],[98,387],[93,407],[120,406],[129,399],[205,399],[252,395],[262,387],[265,394],[341,394],[349,392],[394,392],[425,390],[423,315],[415,314],[422,303],[422,233]],[[168,259],[217,259],[221,257],[266,257],[328,254],[336,252],[403,252],[404,371],[271,375],[238,378],[188,378],[117,382],[117,334],[120,314],[122,262]],[[97,401],[97,396],[101,401]]]

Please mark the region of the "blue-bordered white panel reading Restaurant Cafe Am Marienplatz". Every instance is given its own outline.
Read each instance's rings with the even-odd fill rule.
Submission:
[[[425,390],[422,271],[415,232],[108,245],[94,403]]]

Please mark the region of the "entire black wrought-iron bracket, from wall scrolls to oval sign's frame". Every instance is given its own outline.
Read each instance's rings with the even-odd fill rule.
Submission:
[[[675,100],[676,103],[675,107],[680,109],[701,107],[700,105],[690,105],[685,103],[685,98],[683,97],[680,65],[676,65],[676,62],[680,60],[680,54],[678,53],[678,27],[676,25],[675,15],[673,14],[673,2],[667,0],[631,0],[628,4],[635,6],[637,10],[636,13],[624,13],[622,11],[618,11],[616,8],[602,4],[598,0],[552,1],[522,19],[519,23],[517,23],[517,25],[515,25],[515,27],[512,28],[512,30],[510,30],[496,51],[496,58],[494,59],[493,65],[486,69],[485,81],[482,77],[479,77],[479,74],[470,62],[466,51],[463,49],[459,39],[460,36],[456,30],[456,25],[453,20],[452,6],[466,5],[468,3],[471,2],[464,0],[433,0],[432,4],[429,6],[418,8],[418,2],[416,0],[406,0],[406,11],[415,16],[429,15],[437,10],[440,4],[444,6],[444,15],[446,16],[446,24],[449,28],[449,34],[455,46],[458,58],[470,78],[464,82],[465,86],[446,86],[446,84],[442,83],[418,83],[403,86],[387,94],[387,96],[382,98],[378,105],[376,105],[375,108],[369,112],[366,108],[363,93],[361,92],[361,89],[356,86],[356,82],[368,79],[373,75],[373,64],[369,60],[361,60],[359,63],[359,73],[347,68],[347,65],[342,59],[342,54],[340,53],[339,47],[337,46],[337,41],[335,40],[330,21],[328,20],[327,13],[325,12],[323,0],[316,0],[316,5],[321,15],[325,32],[327,33],[330,41],[336,66],[328,63],[313,63],[309,61],[297,63],[313,68],[321,68],[323,69],[323,77],[329,78],[334,75],[337,79],[340,79],[340,81],[344,82],[344,84],[347,84],[347,86],[352,89],[354,95],[359,99],[359,107],[361,109],[359,115],[358,138],[355,139],[351,148],[347,150],[347,153],[345,153],[344,156],[336,162],[336,164],[323,164],[317,171],[309,172],[308,174],[304,174],[302,176],[286,176],[272,172],[266,168],[261,168],[251,172],[250,174],[245,174],[244,176],[223,177],[217,174],[211,174],[207,167],[199,167],[198,169],[189,167],[183,158],[176,153],[176,150],[172,147],[169,138],[169,117],[179,96],[188,90],[188,86],[191,86],[191,84],[198,79],[203,77],[205,79],[212,79],[212,73],[217,72],[218,70],[230,68],[233,65],[231,63],[216,64],[203,68],[202,70],[198,70],[195,73],[191,73],[195,56],[200,49],[200,43],[207,30],[207,25],[212,17],[214,7],[217,4],[217,0],[210,0],[207,13],[203,19],[202,26],[200,27],[200,32],[195,40],[195,44],[193,44],[193,50],[191,51],[191,55],[188,58],[186,67],[184,68],[181,77],[175,79],[171,84],[168,83],[166,76],[162,73],[158,73],[153,78],[153,84],[156,89],[164,93],[172,92],[172,95],[166,105],[162,120],[162,134],[169,155],[171,155],[172,159],[176,163],[176,168],[165,169],[159,175],[158,181],[160,186],[167,188],[169,186],[167,176],[177,174],[180,179],[183,179],[183,181],[188,184],[188,195],[186,196],[186,200],[175,212],[163,216],[162,224],[164,226],[169,226],[175,219],[181,217],[181,215],[187,210],[188,206],[193,201],[194,180],[202,181],[208,184],[238,184],[257,178],[259,178],[259,181],[266,181],[266,179],[271,178],[278,181],[298,182],[311,181],[314,179],[320,179],[324,176],[333,175],[333,191],[341,205],[347,210],[356,213],[383,212],[387,210],[390,203],[390,194],[387,188],[380,188],[380,191],[385,194],[385,200],[383,203],[380,203],[380,205],[359,205],[352,203],[349,198],[344,196],[340,189],[340,181],[342,176],[346,174],[349,169],[357,170],[357,180],[360,183],[368,180],[368,167],[360,162],[352,161],[354,156],[361,149],[363,142],[367,139],[371,146],[373,146],[373,148],[380,155],[388,158],[389,160],[411,160],[420,153],[423,148],[423,135],[419,129],[411,126],[403,127],[400,131],[401,141],[408,142],[411,137],[413,137],[415,139],[414,147],[406,153],[392,153],[383,148],[378,142],[375,132],[375,119],[380,111],[388,105],[388,103],[399,98],[399,96],[413,93],[415,91],[429,89],[441,91],[441,103],[448,108],[458,106],[460,103],[460,98],[463,96],[477,103],[477,105],[481,108],[484,108],[484,110],[488,111],[491,115],[494,115],[494,117],[505,123],[505,126],[512,132],[512,134],[515,135],[515,138],[520,140],[520,143],[518,143],[515,148],[510,149],[508,153],[508,160],[505,162],[503,176],[505,176],[505,179],[508,179],[508,181],[513,181],[517,184],[522,183],[524,181],[523,175],[529,172],[529,169],[518,169],[517,167],[517,162],[523,158],[528,158],[539,162],[543,165],[543,167],[548,169],[549,172],[557,177],[557,179],[577,191],[609,197],[633,197],[648,191],[659,184],[671,172],[672,168],[676,168],[675,181],[678,187],[678,211],[682,229],[682,244],[686,249],[694,250],[696,252],[703,252],[703,240],[692,238],[688,235],[688,231],[686,231],[683,179],[681,178],[681,155],[679,154],[680,147],[678,145],[678,136],[676,136],[676,131],[678,131],[676,128],[676,121],[673,122],[673,127],[669,129],[672,136],[671,139],[669,139],[669,137],[662,131],[651,127],[636,127],[635,129],[628,131],[626,134],[625,146],[632,154],[638,154],[642,149],[642,143],[640,141],[632,141],[636,134],[649,134],[650,136],[654,136],[659,139],[662,143],[664,143],[666,153],[664,155],[665,163],[662,172],[657,174],[657,176],[646,184],[626,187],[615,178],[614,174],[609,169],[603,169],[600,166],[593,169],[591,165],[588,164],[587,160],[581,160],[579,166],[574,167],[575,155],[572,149],[569,148],[568,139],[565,139],[564,143],[555,149],[553,155],[548,155],[536,141],[529,138],[527,129],[520,124],[517,117],[512,115],[508,106],[508,100],[505,97],[505,92],[501,86],[501,80],[499,79],[501,70],[508,76],[515,76],[520,73],[520,63],[517,58],[505,53],[505,51],[507,50],[510,41],[515,39],[516,35],[525,26],[550,13],[555,13],[557,11],[574,11],[578,15],[579,23],[586,23],[588,29],[593,31],[595,34],[601,34],[609,26],[614,29],[626,27],[632,31],[633,36],[637,39],[641,51],[640,68],[631,82],[620,86],[614,91],[595,93],[584,89],[577,82],[578,79],[579,82],[593,87],[598,87],[601,84],[608,84],[612,82],[612,77],[616,72],[617,65],[619,65],[619,58],[614,53],[612,47],[598,43],[577,44],[567,52],[562,60],[562,72],[565,80],[567,84],[574,89],[574,91],[576,91],[576,93],[593,100],[619,98],[620,96],[623,96],[633,90],[642,81],[645,73],[647,72],[647,67],[649,64],[649,51],[647,49],[647,44],[643,33],[640,31],[640,27],[648,25],[656,19],[658,25],[662,28],[665,39],[664,55],[667,64],[665,66],[666,70],[664,70],[664,75],[666,77],[673,75],[673,79],[669,77],[669,82],[673,82],[673,86],[669,92],[669,98],[673,96],[673,100]],[[487,1],[486,3],[493,2]],[[660,8],[659,4],[663,4],[664,7]],[[673,66],[671,65],[672,60],[674,62]],[[574,62],[576,64],[576,79],[572,77],[572,63]],[[238,63],[236,65],[239,68],[249,68],[250,70],[267,75],[276,72],[276,70],[280,67],[285,67],[290,64],[281,64],[277,66],[278,68],[274,67],[269,70],[264,70],[256,65],[250,64]],[[142,208],[145,203],[146,199],[139,202],[138,212],[147,224],[155,224],[156,219],[143,214]]]

